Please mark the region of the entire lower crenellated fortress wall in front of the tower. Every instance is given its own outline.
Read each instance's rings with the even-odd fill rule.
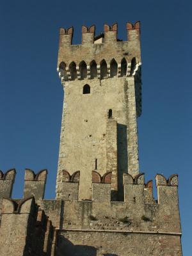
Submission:
[[[125,174],[124,202],[111,202],[111,184],[102,182],[92,184],[92,200],[76,200],[74,182],[63,182],[65,200],[44,200],[47,171],[31,173],[24,187],[31,197],[12,200],[0,190],[0,255],[182,255],[177,175],[156,176],[156,201],[143,173]]]

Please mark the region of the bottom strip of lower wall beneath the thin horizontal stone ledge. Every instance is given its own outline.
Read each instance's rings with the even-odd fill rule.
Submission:
[[[179,236],[103,231],[67,231],[61,232],[59,236],[61,253],[58,256],[182,255]]]

